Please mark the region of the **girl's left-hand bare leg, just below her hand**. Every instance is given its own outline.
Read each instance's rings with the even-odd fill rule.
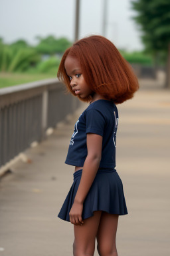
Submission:
[[[95,239],[100,223],[102,211],[94,211],[94,216],[84,219],[82,226],[74,225],[74,256],[93,256],[95,250]]]

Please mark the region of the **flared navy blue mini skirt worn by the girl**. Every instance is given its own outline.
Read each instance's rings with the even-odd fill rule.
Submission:
[[[58,213],[58,217],[64,221],[70,221],[69,212],[81,177],[82,169],[73,173],[74,181]],[[106,211],[118,215],[128,214],[123,183],[116,169],[98,169],[83,203],[82,219],[92,217],[94,211]]]

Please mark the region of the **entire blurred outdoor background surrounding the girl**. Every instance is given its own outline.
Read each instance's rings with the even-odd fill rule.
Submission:
[[[129,213],[119,220],[118,254],[169,256],[169,0],[0,5],[0,255],[72,255],[72,225],[57,215],[74,172],[64,164],[68,144],[88,104],[66,94],[56,73],[65,49],[95,34],[139,80],[118,105],[116,166]]]

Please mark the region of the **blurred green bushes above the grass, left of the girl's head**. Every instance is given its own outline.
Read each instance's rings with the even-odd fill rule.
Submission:
[[[56,39],[52,35],[37,39],[39,44],[31,47],[23,39],[8,45],[0,37],[0,71],[56,73],[60,60],[54,55],[62,55],[70,47],[70,41],[64,37]],[[49,59],[42,61],[43,54],[50,55]]]

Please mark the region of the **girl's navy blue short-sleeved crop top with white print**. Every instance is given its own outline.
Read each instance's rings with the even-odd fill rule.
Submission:
[[[103,137],[100,168],[116,167],[116,132],[118,109],[113,101],[98,99],[91,103],[74,125],[65,163],[83,167],[88,154],[86,134],[96,133]]]

